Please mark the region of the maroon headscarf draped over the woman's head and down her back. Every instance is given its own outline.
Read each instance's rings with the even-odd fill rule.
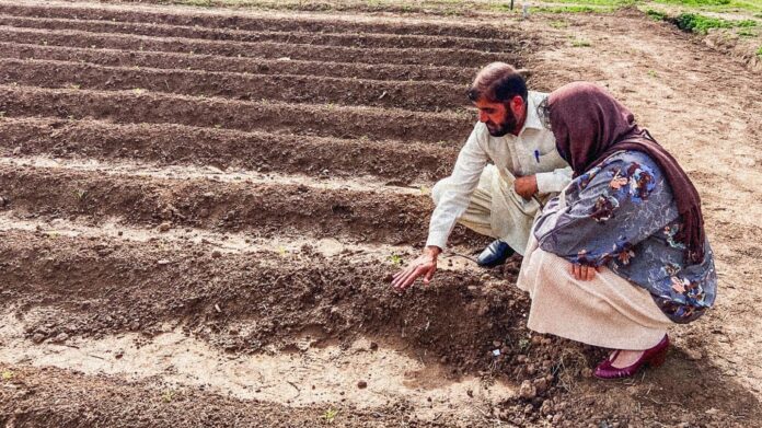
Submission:
[[[640,151],[659,165],[678,205],[683,227],[676,236],[691,263],[704,259],[704,218],[698,192],[678,161],[635,123],[635,116],[603,89],[587,82],[564,85],[547,100],[558,153],[578,176],[620,150]]]

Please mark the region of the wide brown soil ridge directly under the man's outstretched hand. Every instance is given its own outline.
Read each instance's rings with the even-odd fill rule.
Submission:
[[[495,339],[515,344],[526,335],[528,299],[501,278],[443,270],[436,287],[400,294],[389,282],[391,263],[324,257],[309,246],[219,256],[195,244],[7,231],[0,263],[5,304],[41,308],[27,320],[36,340],[130,329],[150,336],[171,323],[212,346],[252,352],[293,346],[307,329],[315,340],[402,340],[473,370],[496,362],[487,352]],[[500,360],[518,352],[507,347]]]

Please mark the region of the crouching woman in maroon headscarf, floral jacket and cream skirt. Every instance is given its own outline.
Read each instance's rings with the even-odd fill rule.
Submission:
[[[670,325],[714,303],[698,194],[602,89],[563,86],[544,113],[574,180],[534,223],[519,276],[532,298],[528,326],[616,349],[594,375],[631,377],[663,362]]]

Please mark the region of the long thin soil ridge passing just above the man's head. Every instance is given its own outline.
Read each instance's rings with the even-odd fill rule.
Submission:
[[[13,36],[13,34],[18,34]],[[403,49],[357,48],[344,46],[312,46],[274,42],[218,42],[180,37],[151,37],[130,34],[90,33],[76,30],[36,30],[0,26],[0,37],[15,39],[19,33],[38,38],[49,45],[112,48],[128,50],[166,50],[249,58],[289,58],[298,60],[322,60],[333,62],[397,63],[446,67],[478,67],[492,61],[521,65],[521,55],[513,53],[493,54],[472,49]]]

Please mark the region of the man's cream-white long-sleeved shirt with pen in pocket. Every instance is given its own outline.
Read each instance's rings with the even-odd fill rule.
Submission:
[[[530,91],[527,119],[518,136],[489,135],[487,126],[477,123],[458,155],[447,190],[431,215],[426,245],[444,248],[458,219],[465,212],[487,162],[516,177],[535,175],[540,195],[561,192],[572,180],[572,169],[561,158],[555,138],[538,115],[538,105],[547,96]]]

